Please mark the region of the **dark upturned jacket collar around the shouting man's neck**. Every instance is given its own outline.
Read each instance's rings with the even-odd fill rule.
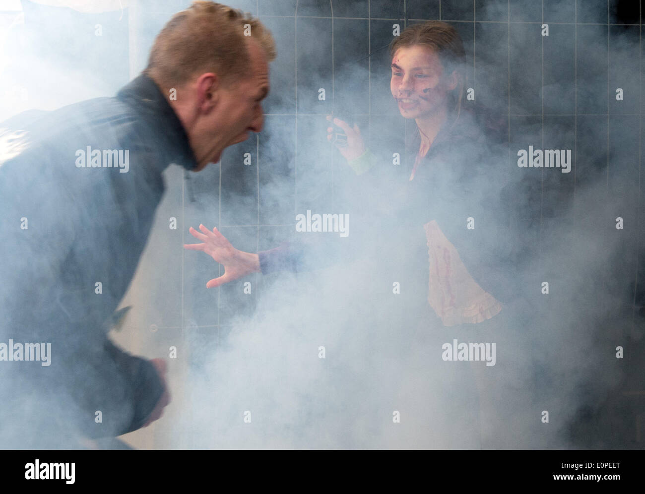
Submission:
[[[159,143],[155,144],[162,146],[164,155],[168,157],[167,161],[164,160],[164,168],[169,163],[175,163],[186,170],[194,170],[197,161],[186,130],[150,77],[139,75],[119,90],[117,98],[133,106],[150,128],[159,134]]]

